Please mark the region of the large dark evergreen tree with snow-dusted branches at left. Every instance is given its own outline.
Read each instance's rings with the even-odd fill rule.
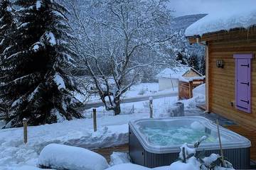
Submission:
[[[81,103],[72,95],[78,91],[70,68],[74,67],[68,48],[68,26],[64,6],[54,0],[16,0],[21,9],[16,33],[16,52],[7,57],[11,65],[1,84],[3,102],[11,108],[5,120],[8,127],[55,123],[58,120],[82,118]]]

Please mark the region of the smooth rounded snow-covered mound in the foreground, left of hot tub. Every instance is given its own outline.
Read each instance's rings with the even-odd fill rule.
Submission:
[[[109,165],[100,154],[81,147],[50,144],[39,155],[38,166],[50,169],[103,170]]]

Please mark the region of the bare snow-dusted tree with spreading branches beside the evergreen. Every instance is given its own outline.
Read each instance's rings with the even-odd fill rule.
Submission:
[[[75,37],[70,42],[107,111],[121,112],[122,95],[143,69],[164,55],[161,45],[171,11],[161,0],[97,0],[69,2]],[[154,56],[154,57],[149,57]]]

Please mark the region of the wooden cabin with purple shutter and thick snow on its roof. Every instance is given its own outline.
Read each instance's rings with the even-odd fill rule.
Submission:
[[[206,46],[206,110],[256,128],[256,8],[247,10],[209,14],[186,37]]]

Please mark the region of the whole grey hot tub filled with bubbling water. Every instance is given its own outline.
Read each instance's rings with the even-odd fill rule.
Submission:
[[[220,154],[215,123],[200,117],[142,119],[129,123],[129,155],[134,164],[149,168],[170,165],[178,159],[183,143],[193,146],[202,136],[198,151]],[[250,140],[220,127],[223,153],[235,169],[250,168]]]

